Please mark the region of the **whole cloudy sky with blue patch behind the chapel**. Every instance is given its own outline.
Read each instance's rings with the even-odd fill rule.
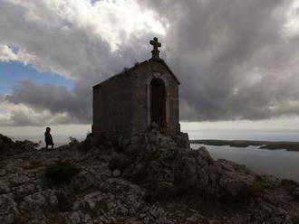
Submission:
[[[299,126],[297,0],[0,0],[0,132],[86,132],[92,86],[150,57],[183,128]]]

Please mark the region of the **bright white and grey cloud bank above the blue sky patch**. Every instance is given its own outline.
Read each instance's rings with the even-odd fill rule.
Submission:
[[[0,6],[1,42],[31,55],[28,62],[36,69],[72,79],[107,77],[130,61],[120,46],[147,33],[164,33],[153,13],[133,0],[94,5],[85,0],[4,0]]]

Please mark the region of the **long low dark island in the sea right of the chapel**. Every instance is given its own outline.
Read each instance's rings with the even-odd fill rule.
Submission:
[[[214,145],[214,146],[228,145],[231,147],[248,147],[248,146],[252,145],[252,146],[259,146],[259,148],[262,148],[262,149],[269,149],[269,150],[285,149],[287,151],[299,152],[299,142],[202,139],[202,140],[190,140],[190,143],[191,144]]]

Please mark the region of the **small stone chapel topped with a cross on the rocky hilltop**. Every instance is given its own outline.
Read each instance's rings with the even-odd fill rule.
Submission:
[[[93,86],[94,135],[133,135],[149,129],[152,123],[165,135],[180,131],[178,115],[179,81],[165,61],[159,58],[161,43],[153,45],[149,61],[136,63]]]

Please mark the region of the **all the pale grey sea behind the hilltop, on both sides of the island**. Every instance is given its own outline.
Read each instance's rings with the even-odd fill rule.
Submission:
[[[261,141],[295,141],[299,142],[299,130],[200,130],[188,131],[189,139],[217,140],[261,140]],[[74,135],[79,141],[86,135]],[[43,135],[13,137],[14,140],[32,140],[44,146]],[[68,135],[53,135],[55,146],[69,142]],[[258,146],[230,147],[192,144],[193,149],[206,146],[214,159],[227,159],[245,164],[259,174],[273,175],[282,179],[299,182],[299,152],[286,150],[259,149]]]

